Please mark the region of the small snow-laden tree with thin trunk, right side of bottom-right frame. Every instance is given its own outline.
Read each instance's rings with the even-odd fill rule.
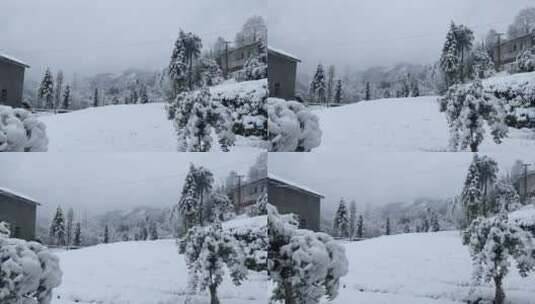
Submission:
[[[535,269],[535,247],[530,233],[509,221],[506,213],[475,219],[464,231],[463,243],[469,246],[472,256],[474,282],[493,281],[495,304],[504,303],[502,283],[511,259],[521,277]]]

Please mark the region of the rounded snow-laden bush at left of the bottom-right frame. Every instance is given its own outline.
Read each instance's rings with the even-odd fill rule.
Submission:
[[[338,294],[340,278],[348,272],[342,246],[325,233],[297,229],[295,219],[268,205],[268,270],[273,301],[319,303]]]

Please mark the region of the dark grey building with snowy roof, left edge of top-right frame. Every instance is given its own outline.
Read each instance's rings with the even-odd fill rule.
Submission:
[[[296,56],[282,50],[268,48],[269,96],[282,99],[295,99],[297,64]]]

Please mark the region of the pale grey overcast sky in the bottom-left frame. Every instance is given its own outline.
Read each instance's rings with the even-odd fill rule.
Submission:
[[[230,170],[246,174],[255,153],[2,153],[0,187],[39,201],[50,215],[58,204],[89,215],[136,206],[169,207],[182,190],[189,164],[223,182]]]

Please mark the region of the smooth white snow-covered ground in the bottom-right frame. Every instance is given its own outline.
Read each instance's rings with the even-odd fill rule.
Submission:
[[[453,304],[471,289],[472,265],[458,231],[383,236],[344,243],[349,274],[332,304]],[[513,268],[513,267],[512,267]],[[505,280],[507,303],[535,303],[535,275],[522,279],[511,269]],[[491,299],[492,285],[474,296]]]

